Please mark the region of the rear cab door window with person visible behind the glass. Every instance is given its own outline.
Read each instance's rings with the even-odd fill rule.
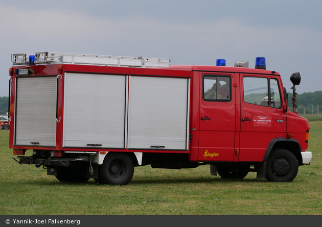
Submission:
[[[206,101],[231,100],[231,78],[204,75],[203,99]]]

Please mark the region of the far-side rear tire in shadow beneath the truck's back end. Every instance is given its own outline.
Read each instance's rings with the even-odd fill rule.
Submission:
[[[85,183],[89,180],[86,178],[85,171],[68,168],[57,169],[56,178],[60,182],[68,183]]]

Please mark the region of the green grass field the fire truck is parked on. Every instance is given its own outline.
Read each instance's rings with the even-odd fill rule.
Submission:
[[[317,125],[318,123],[318,125]],[[271,183],[249,173],[243,180],[195,169],[136,167],[126,186],[61,183],[42,168],[19,165],[0,130],[0,214],[322,214],[322,122],[310,123],[311,165],[300,166],[290,183]],[[27,155],[30,155],[27,152]]]

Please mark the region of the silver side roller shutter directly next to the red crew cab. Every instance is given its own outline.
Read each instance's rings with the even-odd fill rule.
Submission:
[[[128,148],[187,149],[189,80],[130,77]]]

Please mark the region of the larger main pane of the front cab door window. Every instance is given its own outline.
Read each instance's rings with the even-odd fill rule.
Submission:
[[[269,106],[267,78],[244,77],[243,88],[245,103]]]

